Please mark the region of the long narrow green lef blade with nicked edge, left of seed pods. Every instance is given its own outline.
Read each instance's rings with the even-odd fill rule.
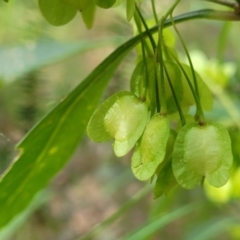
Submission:
[[[19,144],[22,152],[18,160],[0,180],[0,228],[27,207],[66,164],[107,82],[136,42],[115,50]]]

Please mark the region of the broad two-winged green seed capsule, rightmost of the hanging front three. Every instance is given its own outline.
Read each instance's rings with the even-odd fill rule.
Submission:
[[[199,126],[186,124],[178,133],[172,167],[178,183],[193,188],[206,178],[215,186],[223,186],[232,165],[230,137],[218,123]]]

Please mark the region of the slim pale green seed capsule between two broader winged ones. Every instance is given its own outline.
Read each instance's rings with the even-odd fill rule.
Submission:
[[[148,123],[139,146],[132,156],[132,171],[139,180],[153,176],[163,161],[169,137],[170,125],[167,117],[155,114]]]

